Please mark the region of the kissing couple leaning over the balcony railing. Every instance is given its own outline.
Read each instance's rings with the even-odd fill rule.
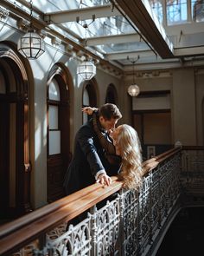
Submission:
[[[73,159],[64,181],[66,194],[72,194],[94,182],[109,186],[118,175],[124,188],[137,189],[142,182],[140,141],[134,128],[119,125],[118,107],[106,103],[98,108],[82,108],[92,118],[77,132]]]

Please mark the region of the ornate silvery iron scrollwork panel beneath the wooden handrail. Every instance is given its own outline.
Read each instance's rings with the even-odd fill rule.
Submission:
[[[175,154],[144,175],[138,192],[122,190],[105,207],[94,207],[86,220],[71,226],[57,240],[49,241],[48,255],[145,253],[179,196],[179,167],[180,156]],[[39,255],[39,251],[34,255]]]

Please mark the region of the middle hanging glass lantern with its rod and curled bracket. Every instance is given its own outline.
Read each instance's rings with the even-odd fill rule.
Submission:
[[[92,22],[91,23],[93,23],[94,20],[95,20],[95,15],[92,16]],[[77,23],[80,24],[79,17],[77,19]],[[89,23],[89,25],[91,23]],[[87,28],[88,28],[88,24],[87,23],[80,24],[80,25],[82,25],[83,28],[87,30]],[[86,38],[86,34],[85,34],[85,38]],[[85,49],[86,49],[86,44],[87,44],[87,38],[85,39]],[[77,75],[80,75],[80,77],[83,80],[91,80],[92,77],[94,75],[96,75],[96,66],[95,66],[94,62],[92,62],[91,60],[88,60],[87,57],[86,57],[85,61],[81,62],[78,65],[78,67],[77,67]]]

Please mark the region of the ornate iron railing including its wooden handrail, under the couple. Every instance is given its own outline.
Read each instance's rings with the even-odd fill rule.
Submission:
[[[0,254],[152,255],[182,207],[183,158],[181,149],[174,148],[144,162],[146,173],[138,192],[124,191],[113,177],[110,187],[94,184],[1,226]],[[114,200],[97,209],[99,201],[116,193]],[[88,208],[87,218],[66,231],[67,220]]]

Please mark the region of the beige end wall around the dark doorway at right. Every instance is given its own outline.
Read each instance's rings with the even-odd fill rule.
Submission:
[[[148,75],[143,71],[142,75],[137,77],[136,82],[142,92],[170,91],[171,143],[181,141],[183,145],[204,145],[203,67],[161,70],[157,72],[156,76],[152,74],[154,72],[151,73],[150,70]],[[126,77],[125,90],[131,82],[131,76]],[[137,98],[133,101],[137,105]],[[148,98],[145,101],[143,106],[149,106]],[[135,105],[134,108],[137,109]],[[158,101],[157,105],[159,105]],[[161,109],[163,109],[163,106],[161,106]],[[156,142],[156,138],[154,138],[154,141]]]

